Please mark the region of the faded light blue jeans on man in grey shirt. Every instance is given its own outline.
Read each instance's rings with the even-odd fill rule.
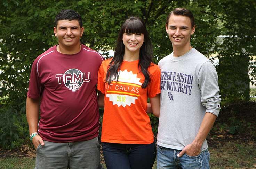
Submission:
[[[157,145],[157,169],[209,169],[210,153],[206,149],[197,156],[177,157],[181,150]]]

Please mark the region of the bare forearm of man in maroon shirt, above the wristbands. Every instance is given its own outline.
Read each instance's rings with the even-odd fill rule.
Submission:
[[[29,124],[29,133],[37,132],[39,118],[39,99],[31,99],[27,97],[26,101],[26,117]]]

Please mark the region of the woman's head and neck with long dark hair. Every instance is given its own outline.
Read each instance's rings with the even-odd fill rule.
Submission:
[[[139,66],[145,77],[142,87],[146,87],[150,83],[147,68],[149,68],[152,62],[152,57],[152,44],[144,21],[137,17],[130,17],[123,23],[119,31],[115,54],[106,73],[107,82],[111,83],[112,76],[118,80],[118,68],[123,60],[139,60]]]

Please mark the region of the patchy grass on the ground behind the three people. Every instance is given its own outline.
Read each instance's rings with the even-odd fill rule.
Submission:
[[[215,148],[209,147],[211,169],[255,169],[256,143],[227,142]],[[33,169],[35,158],[8,157],[0,159],[0,169]],[[153,169],[156,169],[154,164]]]

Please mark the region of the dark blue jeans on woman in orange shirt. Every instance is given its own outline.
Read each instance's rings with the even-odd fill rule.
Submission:
[[[102,143],[107,169],[152,169],[155,161],[155,143]]]

